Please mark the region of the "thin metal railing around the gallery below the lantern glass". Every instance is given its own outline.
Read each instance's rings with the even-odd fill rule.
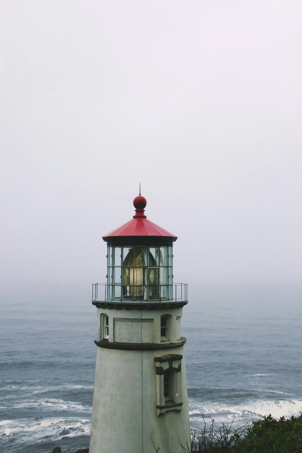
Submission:
[[[92,284],[92,300],[94,301],[158,304],[158,302],[184,302],[187,299],[187,283],[165,285]]]

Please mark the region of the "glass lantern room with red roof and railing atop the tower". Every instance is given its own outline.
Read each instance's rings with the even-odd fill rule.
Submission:
[[[103,236],[107,282],[93,284],[92,299],[156,303],[187,300],[187,284],[173,283],[173,242],[177,236],[149,221],[147,201],[134,198],[133,218]]]

